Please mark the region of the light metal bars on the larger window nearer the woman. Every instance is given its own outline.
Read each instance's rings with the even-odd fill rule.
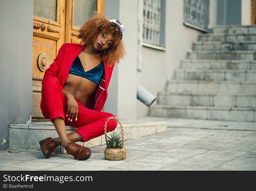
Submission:
[[[160,44],[161,0],[143,0],[143,42]]]

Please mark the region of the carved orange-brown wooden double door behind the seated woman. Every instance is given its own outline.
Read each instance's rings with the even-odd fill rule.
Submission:
[[[104,0],[34,0],[32,121],[49,121],[40,109],[44,72],[53,63],[63,43],[79,44],[79,24],[92,16],[86,10],[94,13],[96,9],[104,12]]]

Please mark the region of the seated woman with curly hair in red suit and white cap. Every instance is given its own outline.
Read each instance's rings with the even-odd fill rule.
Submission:
[[[46,158],[58,145],[75,159],[87,160],[91,151],[74,142],[86,142],[104,134],[111,113],[101,112],[115,63],[124,57],[124,27],[118,20],[97,13],[79,29],[80,44],[64,43],[42,80],[40,108],[59,135],[40,141]],[[100,63],[100,64],[99,64]],[[67,134],[65,125],[76,127]],[[117,126],[110,120],[107,132]]]

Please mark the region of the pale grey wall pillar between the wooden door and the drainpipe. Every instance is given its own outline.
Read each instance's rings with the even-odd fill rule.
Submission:
[[[120,60],[120,64],[115,65],[114,67],[110,86],[108,88],[108,99],[103,110],[104,112],[113,113],[120,120],[136,119],[138,40],[137,4],[137,0],[105,1],[106,17],[119,19],[125,27],[123,41],[127,55],[125,55],[123,60]]]

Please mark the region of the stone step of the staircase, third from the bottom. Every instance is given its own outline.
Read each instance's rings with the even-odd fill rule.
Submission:
[[[256,83],[246,81],[171,80],[167,83],[167,92],[256,94]]]

